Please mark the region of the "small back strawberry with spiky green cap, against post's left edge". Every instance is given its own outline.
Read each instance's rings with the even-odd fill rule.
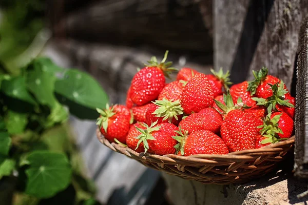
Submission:
[[[214,97],[217,97],[218,95],[223,94],[223,88],[228,90],[228,85],[232,84],[229,78],[230,74],[229,71],[224,74],[222,69],[220,69],[218,72],[215,72],[213,69],[210,69],[210,71],[213,74],[208,74],[206,77],[211,85],[211,88],[213,89]]]

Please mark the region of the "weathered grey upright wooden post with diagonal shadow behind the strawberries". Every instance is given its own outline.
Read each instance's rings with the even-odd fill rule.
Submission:
[[[215,59],[220,59],[215,60],[215,68],[223,66],[225,69],[232,70],[232,80],[239,83],[245,79],[252,79],[252,70],[259,70],[262,66],[266,66],[270,74],[283,79],[287,88],[290,89],[300,24],[302,15],[307,12],[308,1],[249,1],[246,11],[237,8],[241,1],[230,1],[234,9],[239,10],[239,15],[228,11],[232,10],[233,5],[225,5],[222,2],[226,1],[215,0],[215,5],[220,6],[219,9],[215,8],[215,31],[220,32],[215,32],[215,35],[221,36],[214,38]],[[227,11],[218,12],[224,10],[224,6]],[[237,23],[228,24],[226,20],[220,22],[220,18],[239,18],[238,20],[241,21],[243,13],[245,17],[241,32],[238,32],[239,29],[237,32],[231,32],[238,26]],[[232,44],[230,47],[228,42],[220,40],[224,37],[234,39],[235,42],[239,39],[239,43],[236,45],[230,40]],[[224,59],[227,59],[226,63],[221,63]]]

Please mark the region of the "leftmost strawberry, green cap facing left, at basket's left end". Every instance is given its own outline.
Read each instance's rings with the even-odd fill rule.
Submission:
[[[106,109],[97,109],[97,111],[100,113],[97,125],[105,138],[110,142],[117,138],[120,142],[125,143],[131,119],[129,110],[121,105],[109,108],[107,104]]]

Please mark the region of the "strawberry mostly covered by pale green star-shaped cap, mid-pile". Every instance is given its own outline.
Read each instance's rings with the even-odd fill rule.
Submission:
[[[166,99],[156,100],[146,111],[146,124],[150,126],[152,122],[158,121],[158,124],[162,122],[169,122],[174,125],[179,125],[183,116],[183,108],[180,105],[180,101],[168,101]]]

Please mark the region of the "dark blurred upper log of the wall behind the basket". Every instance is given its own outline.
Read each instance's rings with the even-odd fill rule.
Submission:
[[[95,1],[55,25],[55,36],[211,54],[211,1]]]

